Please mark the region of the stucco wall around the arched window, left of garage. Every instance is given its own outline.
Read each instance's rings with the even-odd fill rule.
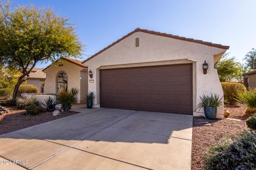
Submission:
[[[78,94],[76,95],[76,101],[79,103],[81,100],[81,90],[80,90],[80,81],[82,70],[85,68],[77,66],[73,63],[61,60],[62,62],[57,62],[55,65],[48,67],[44,72],[46,73],[45,85],[44,85],[44,94],[56,94],[57,92],[57,81],[56,77],[60,71],[64,71],[68,75],[68,90],[70,88],[78,89]],[[59,66],[63,64],[63,66]],[[87,69],[86,69],[87,70]]]

